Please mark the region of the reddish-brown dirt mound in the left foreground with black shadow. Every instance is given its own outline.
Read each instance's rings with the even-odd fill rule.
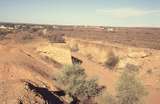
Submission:
[[[62,104],[53,84],[57,70],[20,44],[0,45],[1,104]]]

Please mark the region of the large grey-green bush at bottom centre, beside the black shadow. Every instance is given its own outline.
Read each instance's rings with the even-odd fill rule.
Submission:
[[[57,75],[56,82],[73,100],[86,102],[102,91],[95,79],[87,80],[86,78],[84,69],[79,65],[65,66]]]

